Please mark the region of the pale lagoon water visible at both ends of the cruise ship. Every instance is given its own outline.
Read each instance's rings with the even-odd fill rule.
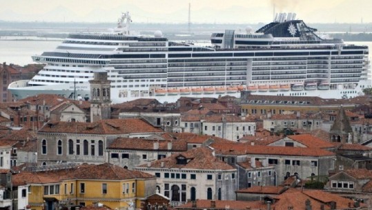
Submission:
[[[27,65],[34,63],[31,56],[39,55],[46,51],[53,51],[62,40],[56,39],[10,39],[0,38],[0,62]],[[372,41],[347,42],[355,45],[368,45],[372,49]],[[370,53],[371,60],[372,52]]]

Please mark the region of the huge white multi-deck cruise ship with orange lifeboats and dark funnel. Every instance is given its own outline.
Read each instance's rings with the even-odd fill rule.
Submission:
[[[101,71],[108,72],[112,103],[239,97],[242,91],[351,98],[371,87],[368,47],[324,39],[295,17],[277,14],[255,32],[213,33],[211,45],[200,46],[169,41],[160,31],[132,34],[125,12],[108,33],[70,34],[57,49],[32,56],[46,66],[30,81],[16,81],[8,89],[16,98],[43,93],[88,100],[88,81]]]

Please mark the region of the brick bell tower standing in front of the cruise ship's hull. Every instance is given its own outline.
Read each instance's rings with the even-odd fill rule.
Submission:
[[[111,117],[110,83],[107,72],[95,72],[90,83],[90,122]]]

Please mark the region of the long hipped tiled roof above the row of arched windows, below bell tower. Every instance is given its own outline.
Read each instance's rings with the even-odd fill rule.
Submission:
[[[47,123],[39,132],[77,133],[77,134],[135,134],[160,133],[161,129],[153,127],[140,119],[109,119],[95,123],[57,122]]]

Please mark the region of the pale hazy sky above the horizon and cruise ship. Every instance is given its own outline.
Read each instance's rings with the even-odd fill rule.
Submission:
[[[0,0],[0,21],[267,23],[296,12],[306,23],[371,23],[371,0]],[[275,7],[274,7],[275,5]]]

